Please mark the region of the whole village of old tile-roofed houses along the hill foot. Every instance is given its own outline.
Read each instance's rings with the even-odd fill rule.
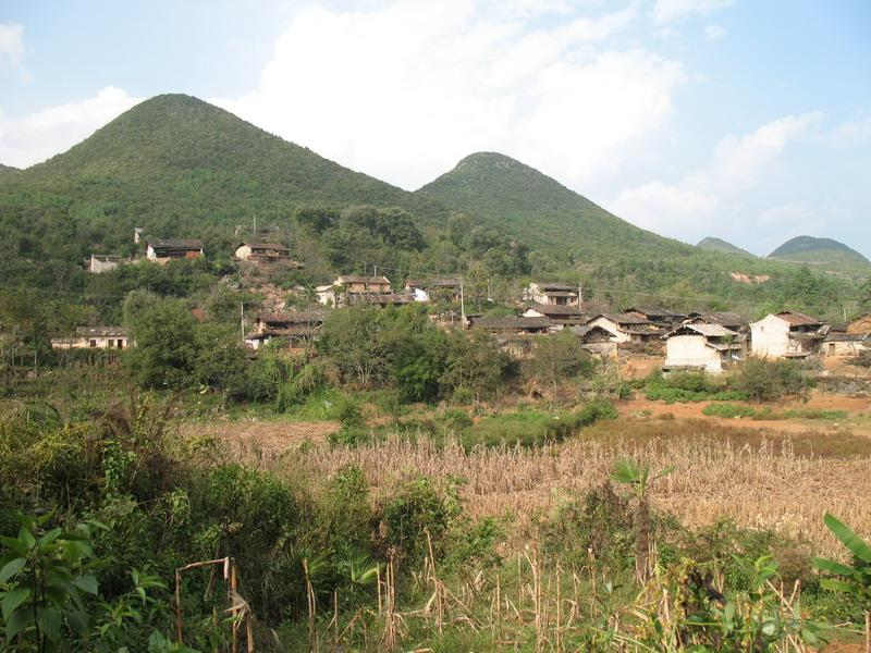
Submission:
[[[269,229],[265,230],[267,233]],[[256,231],[255,231],[256,233]],[[134,244],[144,245],[140,259],[91,255],[85,268],[102,273],[122,264],[165,264],[205,255],[200,239],[145,238],[134,231]],[[298,270],[304,264],[280,243],[238,242],[233,260],[241,268],[266,271]],[[297,288],[305,293],[306,288]],[[567,331],[592,357],[618,360],[627,356],[660,359],[663,373],[700,371],[720,374],[749,356],[805,359],[852,358],[871,350],[871,315],[851,321],[826,323],[797,311],[782,310],[750,321],[737,312],[679,312],[663,307],[630,305],[618,312],[599,312],[582,296],[582,286],[560,282],[531,282],[505,315],[466,310],[464,282],[458,276],[406,279],[398,287],[384,275],[341,274],[308,289],[311,306],[287,308],[283,301],[263,303],[253,317],[241,316],[244,345],[256,355],[278,341],[297,347],[316,341],[327,311],[346,306],[402,307],[432,305],[429,319],[445,329],[466,329],[492,335],[517,359],[528,359],[542,338]],[[846,316],[845,316],[846,317]],[[135,343],[121,325],[83,325],[74,334],[51,341],[56,349],[124,349]]]

